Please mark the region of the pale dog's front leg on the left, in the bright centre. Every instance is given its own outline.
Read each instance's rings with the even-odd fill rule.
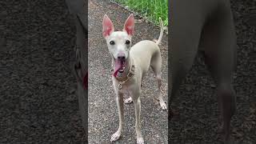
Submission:
[[[123,126],[123,121],[124,121],[124,110],[123,110],[123,94],[118,92],[118,90],[115,90],[115,93],[117,94],[117,104],[118,104],[118,115],[119,115],[119,127],[118,131],[116,131],[112,137],[111,137],[111,142],[114,142],[118,140],[121,136],[122,133],[122,126]]]

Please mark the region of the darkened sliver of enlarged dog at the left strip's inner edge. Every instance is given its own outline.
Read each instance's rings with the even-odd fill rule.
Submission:
[[[79,109],[82,116],[82,125],[87,138],[87,110],[88,110],[88,30],[87,30],[87,2],[83,0],[66,0],[70,12],[74,14],[76,24],[76,45],[74,47],[76,62],[74,63],[74,75],[77,78],[77,95]],[[86,140],[87,141],[87,140]]]

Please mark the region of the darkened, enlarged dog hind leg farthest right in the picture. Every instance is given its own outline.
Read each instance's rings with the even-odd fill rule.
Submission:
[[[219,6],[218,10],[203,29],[202,46],[205,46],[206,65],[217,85],[224,142],[230,143],[230,120],[236,110],[232,86],[236,65],[235,32],[230,4]]]

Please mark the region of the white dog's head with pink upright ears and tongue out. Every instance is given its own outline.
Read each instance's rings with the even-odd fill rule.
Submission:
[[[131,47],[131,37],[134,34],[134,15],[130,14],[123,26],[122,31],[114,31],[114,25],[107,15],[104,15],[102,22],[102,33],[110,54],[114,58],[118,70],[122,72]]]

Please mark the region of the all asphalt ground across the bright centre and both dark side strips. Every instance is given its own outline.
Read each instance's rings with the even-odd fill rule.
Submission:
[[[109,14],[116,19],[114,25],[121,29],[129,14],[106,1],[89,2],[89,142],[110,143],[110,136],[118,127],[118,114],[101,20],[103,14]],[[256,3],[232,0],[231,6],[239,46],[234,75],[238,112],[232,120],[232,135],[238,143],[253,144],[256,143]],[[0,143],[84,143],[85,131],[74,94],[76,81],[71,72],[75,27],[65,1],[10,0],[1,1],[0,7]],[[134,43],[158,38],[158,28],[146,22],[136,24],[135,32]],[[166,40],[165,36],[162,43],[165,58]],[[146,143],[166,143],[167,113],[159,110],[153,97],[156,83],[152,75],[150,70],[142,86],[142,134]],[[166,61],[162,75],[166,89]],[[178,111],[168,126],[172,143],[220,143],[214,90],[214,82],[198,57],[180,96],[172,104]],[[125,112],[124,135],[116,143],[135,142],[133,104],[126,106]]]

